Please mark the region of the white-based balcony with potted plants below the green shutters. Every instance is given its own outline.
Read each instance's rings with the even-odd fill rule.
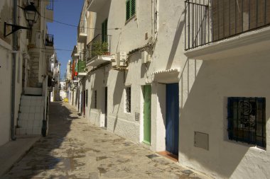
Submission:
[[[111,61],[111,39],[111,35],[101,34],[93,38],[87,45],[87,66],[97,67]]]

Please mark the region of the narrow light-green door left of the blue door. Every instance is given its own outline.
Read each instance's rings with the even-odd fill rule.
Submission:
[[[144,143],[151,144],[151,86],[144,86]]]

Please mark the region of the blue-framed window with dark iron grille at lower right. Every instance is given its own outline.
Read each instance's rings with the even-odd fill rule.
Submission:
[[[265,98],[228,98],[230,140],[266,147]]]

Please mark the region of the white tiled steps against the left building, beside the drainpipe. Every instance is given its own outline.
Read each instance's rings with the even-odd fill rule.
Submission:
[[[21,96],[16,134],[41,134],[43,112],[43,96]]]

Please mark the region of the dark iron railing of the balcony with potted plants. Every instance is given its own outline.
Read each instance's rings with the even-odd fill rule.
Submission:
[[[111,39],[111,35],[99,34],[95,36],[87,45],[87,61],[90,61],[98,55],[110,55]]]

